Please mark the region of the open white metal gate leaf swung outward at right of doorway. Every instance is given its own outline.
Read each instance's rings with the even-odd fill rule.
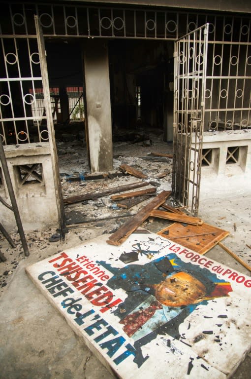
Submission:
[[[208,24],[174,47],[174,156],[172,192],[198,214],[205,112]]]

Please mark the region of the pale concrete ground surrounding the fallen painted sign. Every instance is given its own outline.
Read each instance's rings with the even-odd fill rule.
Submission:
[[[208,224],[228,230],[223,243],[251,265],[251,193],[237,197],[220,195],[200,202],[199,216]],[[166,224],[148,219],[142,226],[153,232]],[[85,223],[72,228],[64,241],[49,243],[53,229],[28,233],[30,256],[22,246],[10,249],[6,240],[0,250],[0,379],[110,379],[110,374],[88,347],[74,334],[57,310],[43,297],[25,273],[25,267],[55,253],[118,227],[116,219]],[[35,237],[34,237],[35,236]],[[18,235],[14,235],[17,238]],[[246,275],[250,272],[219,246],[210,257]],[[251,353],[243,356],[233,379],[249,379]]]

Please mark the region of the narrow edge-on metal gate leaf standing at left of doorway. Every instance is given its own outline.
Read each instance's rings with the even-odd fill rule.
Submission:
[[[42,82],[43,82],[43,91],[44,91],[44,101],[45,101],[45,109],[46,109],[46,116],[47,116],[49,143],[50,143],[51,156],[52,156],[52,169],[53,169],[53,178],[54,178],[54,184],[55,184],[58,216],[59,216],[61,233],[64,238],[65,217],[64,217],[64,210],[63,210],[63,196],[62,196],[62,191],[61,191],[61,181],[60,181],[60,175],[59,175],[59,164],[58,164],[57,147],[56,147],[56,141],[55,141],[55,131],[54,131],[54,125],[53,125],[52,112],[51,112],[50,90],[49,90],[47,63],[46,63],[46,57],[45,57],[45,46],[44,46],[42,29],[41,29],[37,15],[34,15],[34,20],[35,20],[35,27],[36,27],[36,33],[37,33],[38,51],[39,51],[39,56],[40,56],[41,74],[43,78]]]

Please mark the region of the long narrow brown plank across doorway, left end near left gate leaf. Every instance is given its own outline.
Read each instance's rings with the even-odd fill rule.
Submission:
[[[144,187],[144,186],[148,186],[148,183],[136,182],[136,183],[126,184],[125,186],[105,189],[102,192],[90,192],[90,193],[85,193],[83,195],[66,197],[65,199],[63,199],[63,203],[64,204],[74,204],[74,203],[77,203],[79,201],[96,199],[98,197],[110,195],[112,193],[128,191],[129,189],[135,189],[135,188]]]

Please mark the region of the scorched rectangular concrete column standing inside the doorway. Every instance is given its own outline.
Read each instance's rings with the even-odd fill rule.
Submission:
[[[107,41],[85,41],[84,76],[91,172],[110,171],[113,169],[113,151]]]

